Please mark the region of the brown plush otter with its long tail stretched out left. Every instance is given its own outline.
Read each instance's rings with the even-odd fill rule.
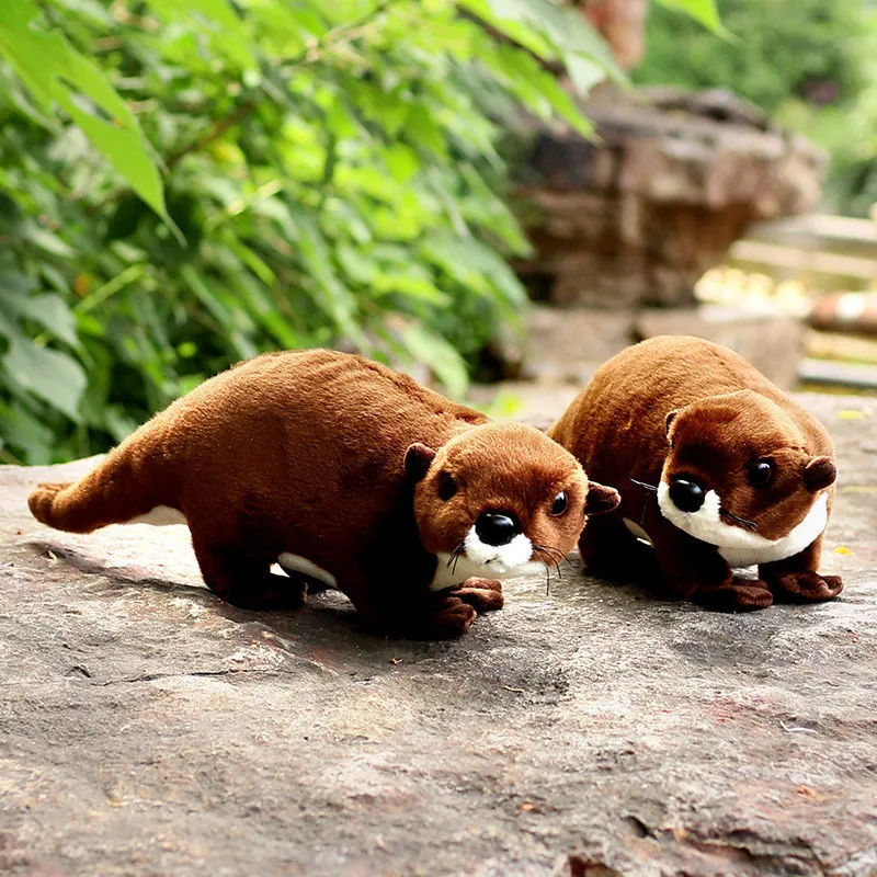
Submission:
[[[426,638],[499,608],[499,579],[556,566],[585,513],[617,503],[539,431],[324,350],[231,368],[79,482],[30,497],[59,529],[187,523],[204,581],[237,606],[296,608],[306,577],[381,630]]]

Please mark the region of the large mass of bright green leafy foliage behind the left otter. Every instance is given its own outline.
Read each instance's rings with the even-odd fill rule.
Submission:
[[[588,130],[540,61],[620,76],[549,0],[0,5],[0,454],[26,463],[267,349],[464,391],[524,303],[497,101]]]

